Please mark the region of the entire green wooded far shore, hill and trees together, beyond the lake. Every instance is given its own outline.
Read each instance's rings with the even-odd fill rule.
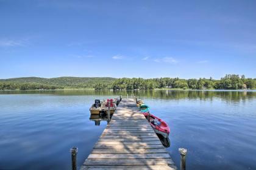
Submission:
[[[110,78],[110,77],[59,77],[10,78],[0,80],[0,90],[34,89],[255,89],[256,79],[244,75],[226,75],[221,80],[212,78]]]

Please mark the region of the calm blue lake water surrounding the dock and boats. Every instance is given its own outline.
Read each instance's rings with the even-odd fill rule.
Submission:
[[[167,150],[178,166],[184,147],[188,169],[256,169],[255,91],[134,93],[171,127]],[[91,103],[118,95],[127,93],[0,92],[0,169],[70,169],[73,146],[82,165],[107,124],[89,120]]]

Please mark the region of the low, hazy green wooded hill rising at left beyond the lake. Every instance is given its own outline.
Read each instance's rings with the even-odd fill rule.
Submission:
[[[116,78],[111,77],[57,77],[57,78],[40,78],[40,77],[21,77],[0,79],[0,83],[10,84],[35,84],[44,86],[54,86],[60,88],[94,88],[104,84],[104,87],[111,86]],[[103,86],[103,85],[102,85]]]

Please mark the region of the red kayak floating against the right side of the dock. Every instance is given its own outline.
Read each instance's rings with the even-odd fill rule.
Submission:
[[[143,115],[144,117],[146,117],[147,120],[149,120],[149,123],[153,127],[155,133],[161,134],[165,138],[169,136],[170,128],[165,121],[163,121],[158,117],[155,117],[152,114],[150,114],[150,118],[149,118],[149,113],[143,113]]]

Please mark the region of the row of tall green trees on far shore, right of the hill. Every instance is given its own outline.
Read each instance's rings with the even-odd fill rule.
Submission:
[[[119,78],[113,82],[113,90],[133,89],[255,89],[256,79],[245,78],[244,75],[226,75],[221,80],[212,78],[180,79],[180,78]]]

